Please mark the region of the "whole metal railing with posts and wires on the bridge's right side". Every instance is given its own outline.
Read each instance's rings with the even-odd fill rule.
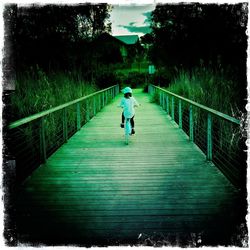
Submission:
[[[155,95],[154,99],[207,160],[236,187],[245,187],[246,155],[240,120],[154,85],[149,85],[148,92]]]

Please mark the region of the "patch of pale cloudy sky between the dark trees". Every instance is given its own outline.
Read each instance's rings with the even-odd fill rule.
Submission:
[[[112,35],[142,36],[150,32],[149,17],[154,9],[154,4],[113,5],[110,15]]]

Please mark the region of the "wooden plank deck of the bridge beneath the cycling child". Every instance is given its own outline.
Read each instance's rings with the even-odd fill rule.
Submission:
[[[20,242],[192,245],[232,238],[237,190],[147,94],[135,97],[142,106],[129,145],[119,96],[23,184]]]

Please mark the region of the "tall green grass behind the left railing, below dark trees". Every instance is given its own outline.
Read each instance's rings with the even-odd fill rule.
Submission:
[[[94,84],[84,82],[76,72],[45,74],[33,68],[19,74],[11,95],[14,119],[50,109],[97,91]]]

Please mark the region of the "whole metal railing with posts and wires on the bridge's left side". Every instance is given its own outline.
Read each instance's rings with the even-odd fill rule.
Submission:
[[[115,85],[9,124],[6,145],[8,158],[15,161],[17,181],[46,163],[118,93],[119,85]]]

